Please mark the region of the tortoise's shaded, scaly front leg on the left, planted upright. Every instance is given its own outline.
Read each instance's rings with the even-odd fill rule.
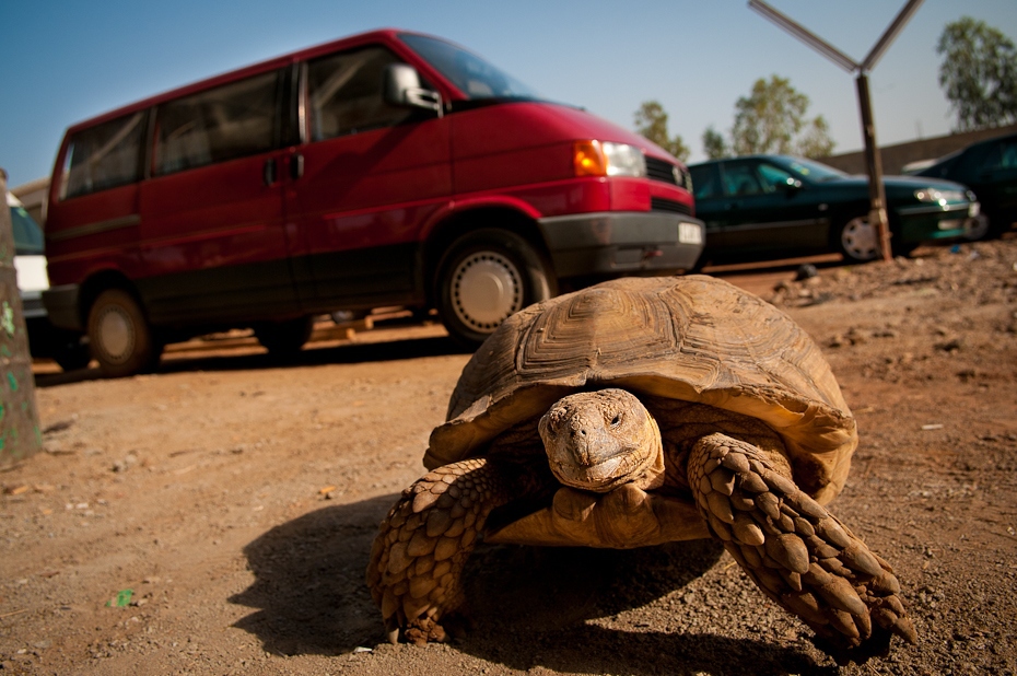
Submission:
[[[460,575],[488,514],[518,491],[518,467],[474,458],[428,473],[402,491],[371,550],[367,586],[388,639],[442,641],[439,620],[459,606]]]

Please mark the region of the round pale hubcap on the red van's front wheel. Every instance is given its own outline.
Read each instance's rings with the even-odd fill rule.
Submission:
[[[456,317],[470,329],[491,333],[523,308],[518,269],[495,252],[477,252],[464,258],[452,278]]]

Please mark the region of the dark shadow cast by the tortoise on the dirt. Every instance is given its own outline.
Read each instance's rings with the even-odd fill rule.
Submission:
[[[397,498],[323,508],[250,541],[244,555],[255,580],[229,601],[254,611],[234,627],[283,655],[340,655],[383,643],[364,571],[377,525]],[[455,648],[523,671],[539,664],[598,673],[613,664],[655,674],[664,660],[664,673],[674,674],[809,673],[815,665],[804,653],[764,641],[584,623],[681,588],[722,552],[712,540],[633,550],[480,545],[464,575],[471,631]]]

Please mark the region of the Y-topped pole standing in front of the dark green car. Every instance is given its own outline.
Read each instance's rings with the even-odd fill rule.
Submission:
[[[756,10],[780,27],[784,28],[806,45],[827,57],[848,72],[857,72],[856,84],[858,89],[858,108],[862,112],[862,137],[865,141],[865,164],[868,167],[868,199],[869,225],[875,225],[879,250],[884,260],[891,260],[893,255],[890,248],[890,223],[887,218],[886,191],[882,186],[882,160],[876,145],[876,123],[873,121],[873,105],[868,95],[868,72],[875,68],[876,61],[900,33],[911,15],[917,11],[922,0],[908,0],[904,8],[897,14],[893,23],[886,30],[876,46],[861,63],[845,55],[843,51],[811,33],[793,19],[776,11],[763,0],[749,0],[749,9]]]

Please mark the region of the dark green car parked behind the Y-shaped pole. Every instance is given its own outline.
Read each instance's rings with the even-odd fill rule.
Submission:
[[[813,160],[749,155],[689,166],[695,215],[706,223],[700,265],[838,252],[846,260],[878,255],[868,223],[868,178]],[[979,205],[965,186],[935,178],[884,177],[893,253],[961,237]]]

